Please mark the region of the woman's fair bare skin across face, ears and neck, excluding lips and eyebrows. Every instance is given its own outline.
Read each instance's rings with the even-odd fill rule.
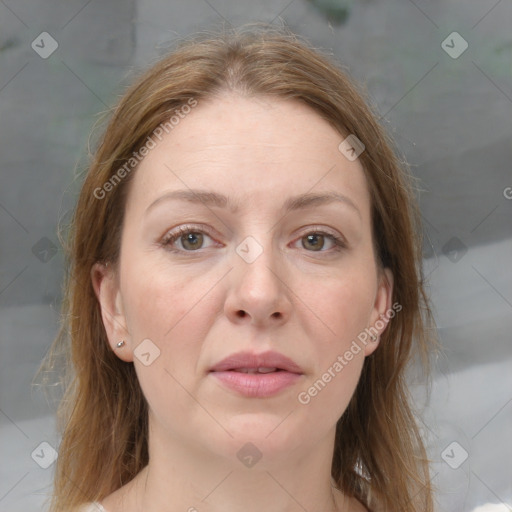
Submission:
[[[336,422],[380,338],[307,405],[297,399],[391,307],[366,178],[338,150],[343,138],[299,102],[224,93],[200,101],[140,164],[119,265],[91,273],[110,346],[135,365],[150,408],[149,465],[103,500],[107,512],[366,510],[333,488],[330,467]],[[222,193],[239,210],[161,200],[147,212],[189,188]],[[355,208],[282,210],[290,196],[332,191]],[[199,238],[178,236],[180,252],[160,243],[184,225]],[[346,247],[307,238],[319,231]],[[263,251],[252,263],[236,252],[248,236]],[[148,366],[134,356],[144,339],[160,350]],[[208,375],[240,350],[279,351],[303,375],[272,397],[241,396]],[[251,468],[237,458],[247,442],[262,454]]]

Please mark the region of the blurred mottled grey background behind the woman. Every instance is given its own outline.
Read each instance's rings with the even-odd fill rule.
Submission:
[[[331,49],[419,178],[444,354],[430,397],[414,393],[437,510],[512,510],[510,2],[0,0],[0,511],[42,510],[51,490],[53,466],[31,453],[59,439],[31,381],[57,331],[57,225],[98,114],[176,38],[251,21]],[[454,31],[468,44],[457,58],[442,46]],[[42,32],[58,43],[46,59],[31,47]]]

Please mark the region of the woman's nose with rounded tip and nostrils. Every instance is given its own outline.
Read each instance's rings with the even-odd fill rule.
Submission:
[[[289,319],[293,293],[279,257],[269,244],[261,250],[253,261],[242,251],[234,254],[225,314],[234,323],[273,327]]]

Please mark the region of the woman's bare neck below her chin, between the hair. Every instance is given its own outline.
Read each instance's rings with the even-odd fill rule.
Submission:
[[[222,447],[191,445],[150,428],[149,464],[133,480],[123,510],[130,512],[340,512],[333,487],[334,432],[311,446],[279,453],[271,443]],[[240,445],[240,446],[239,446]],[[238,447],[239,446],[239,447]],[[252,458],[251,458],[252,457]],[[261,457],[258,459],[258,457]]]

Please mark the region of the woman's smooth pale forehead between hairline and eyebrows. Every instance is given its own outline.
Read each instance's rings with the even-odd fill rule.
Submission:
[[[139,165],[129,203],[151,204],[163,192],[215,189],[244,207],[288,197],[339,192],[369,210],[363,168],[338,149],[345,138],[295,100],[236,94],[199,101]]]

